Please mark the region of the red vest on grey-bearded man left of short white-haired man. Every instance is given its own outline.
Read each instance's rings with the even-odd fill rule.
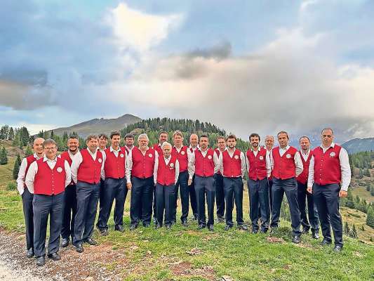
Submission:
[[[134,148],[132,152],[133,169],[131,169],[131,175],[137,178],[149,178],[153,176],[155,152],[156,150],[153,148],[148,148],[145,155],[143,155],[139,148]]]

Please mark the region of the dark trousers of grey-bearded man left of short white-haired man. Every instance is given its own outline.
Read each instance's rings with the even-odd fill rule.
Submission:
[[[153,201],[153,176],[149,178],[131,178],[133,187],[131,188],[130,217],[131,224],[138,225],[139,221],[143,225],[151,222],[152,201]]]

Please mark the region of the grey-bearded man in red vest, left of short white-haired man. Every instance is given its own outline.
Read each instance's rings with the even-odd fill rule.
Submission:
[[[156,174],[159,153],[148,147],[146,133],[138,136],[138,148],[127,157],[126,185],[131,189],[130,230],[138,228],[140,220],[145,228],[151,223],[154,175]]]

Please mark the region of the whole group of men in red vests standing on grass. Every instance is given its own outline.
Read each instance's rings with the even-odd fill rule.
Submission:
[[[209,138],[193,133],[189,146],[183,145],[183,134],[175,131],[172,143],[168,133],[159,133],[159,143],[149,147],[147,134],[138,136],[134,145],[132,134],[105,134],[86,138],[87,148],[79,150],[77,137],[67,141],[68,150],[57,155],[52,139],[36,138],[34,155],[23,159],[18,174],[18,190],[22,195],[26,226],[27,256],[36,257],[36,264],[46,263],[46,228],[50,216],[48,258],[60,259],[58,250],[72,240],[74,249],[84,251],[83,244],[98,244],[93,240],[96,211],[100,202],[96,227],[101,235],[108,234],[108,220],[114,204],[114,230],[123,232],[123,208],[131,190],[130,230],[139,224],[171,228],[176,223],[178,193],[182,226],[188,226],[189,205],[198,228],[214,228],[214,205],[218,222],[225,230],[234,226],[232,212],[236,206],[239,229],[248,230],[243,222],[243,178],[248,173],[251,232],[266,233],[279,226],[283,195],[290,208],[293,242],[300,242],[302,233],[331,244],[333,228],[334,251],[342,249],[342,218],[339,197],[347,196],[350,168],[347,151],[333,143],[333,130],[323,129],[321,145],[310,150],[307,136],[300,138],[300,150],[288,145],[288,133],[265,138],[249,137],[251,148],[241,152],[236,148],[236,136],[217,139],[217,148],[209,148]],[[306,212],[306,202],[308,215]],[[206,212],[207,207],[207,212]],[[208,218],[206,216],[208,214]],[[301,228],[302,226],[302,228]]]

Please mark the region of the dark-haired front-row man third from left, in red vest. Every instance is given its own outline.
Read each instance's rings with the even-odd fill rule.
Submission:
[[[102,170],[102,198],[100,201],[99,218],[96,227],[102,236],[108,235],[108,220],[114,199],[114,230],[123,233],[123,209],[125,206],[127,188],[125,182],[126,150],[119,147],[121,133],[113,131],[110,134],[111,145],[102,152],[104,169]]]

